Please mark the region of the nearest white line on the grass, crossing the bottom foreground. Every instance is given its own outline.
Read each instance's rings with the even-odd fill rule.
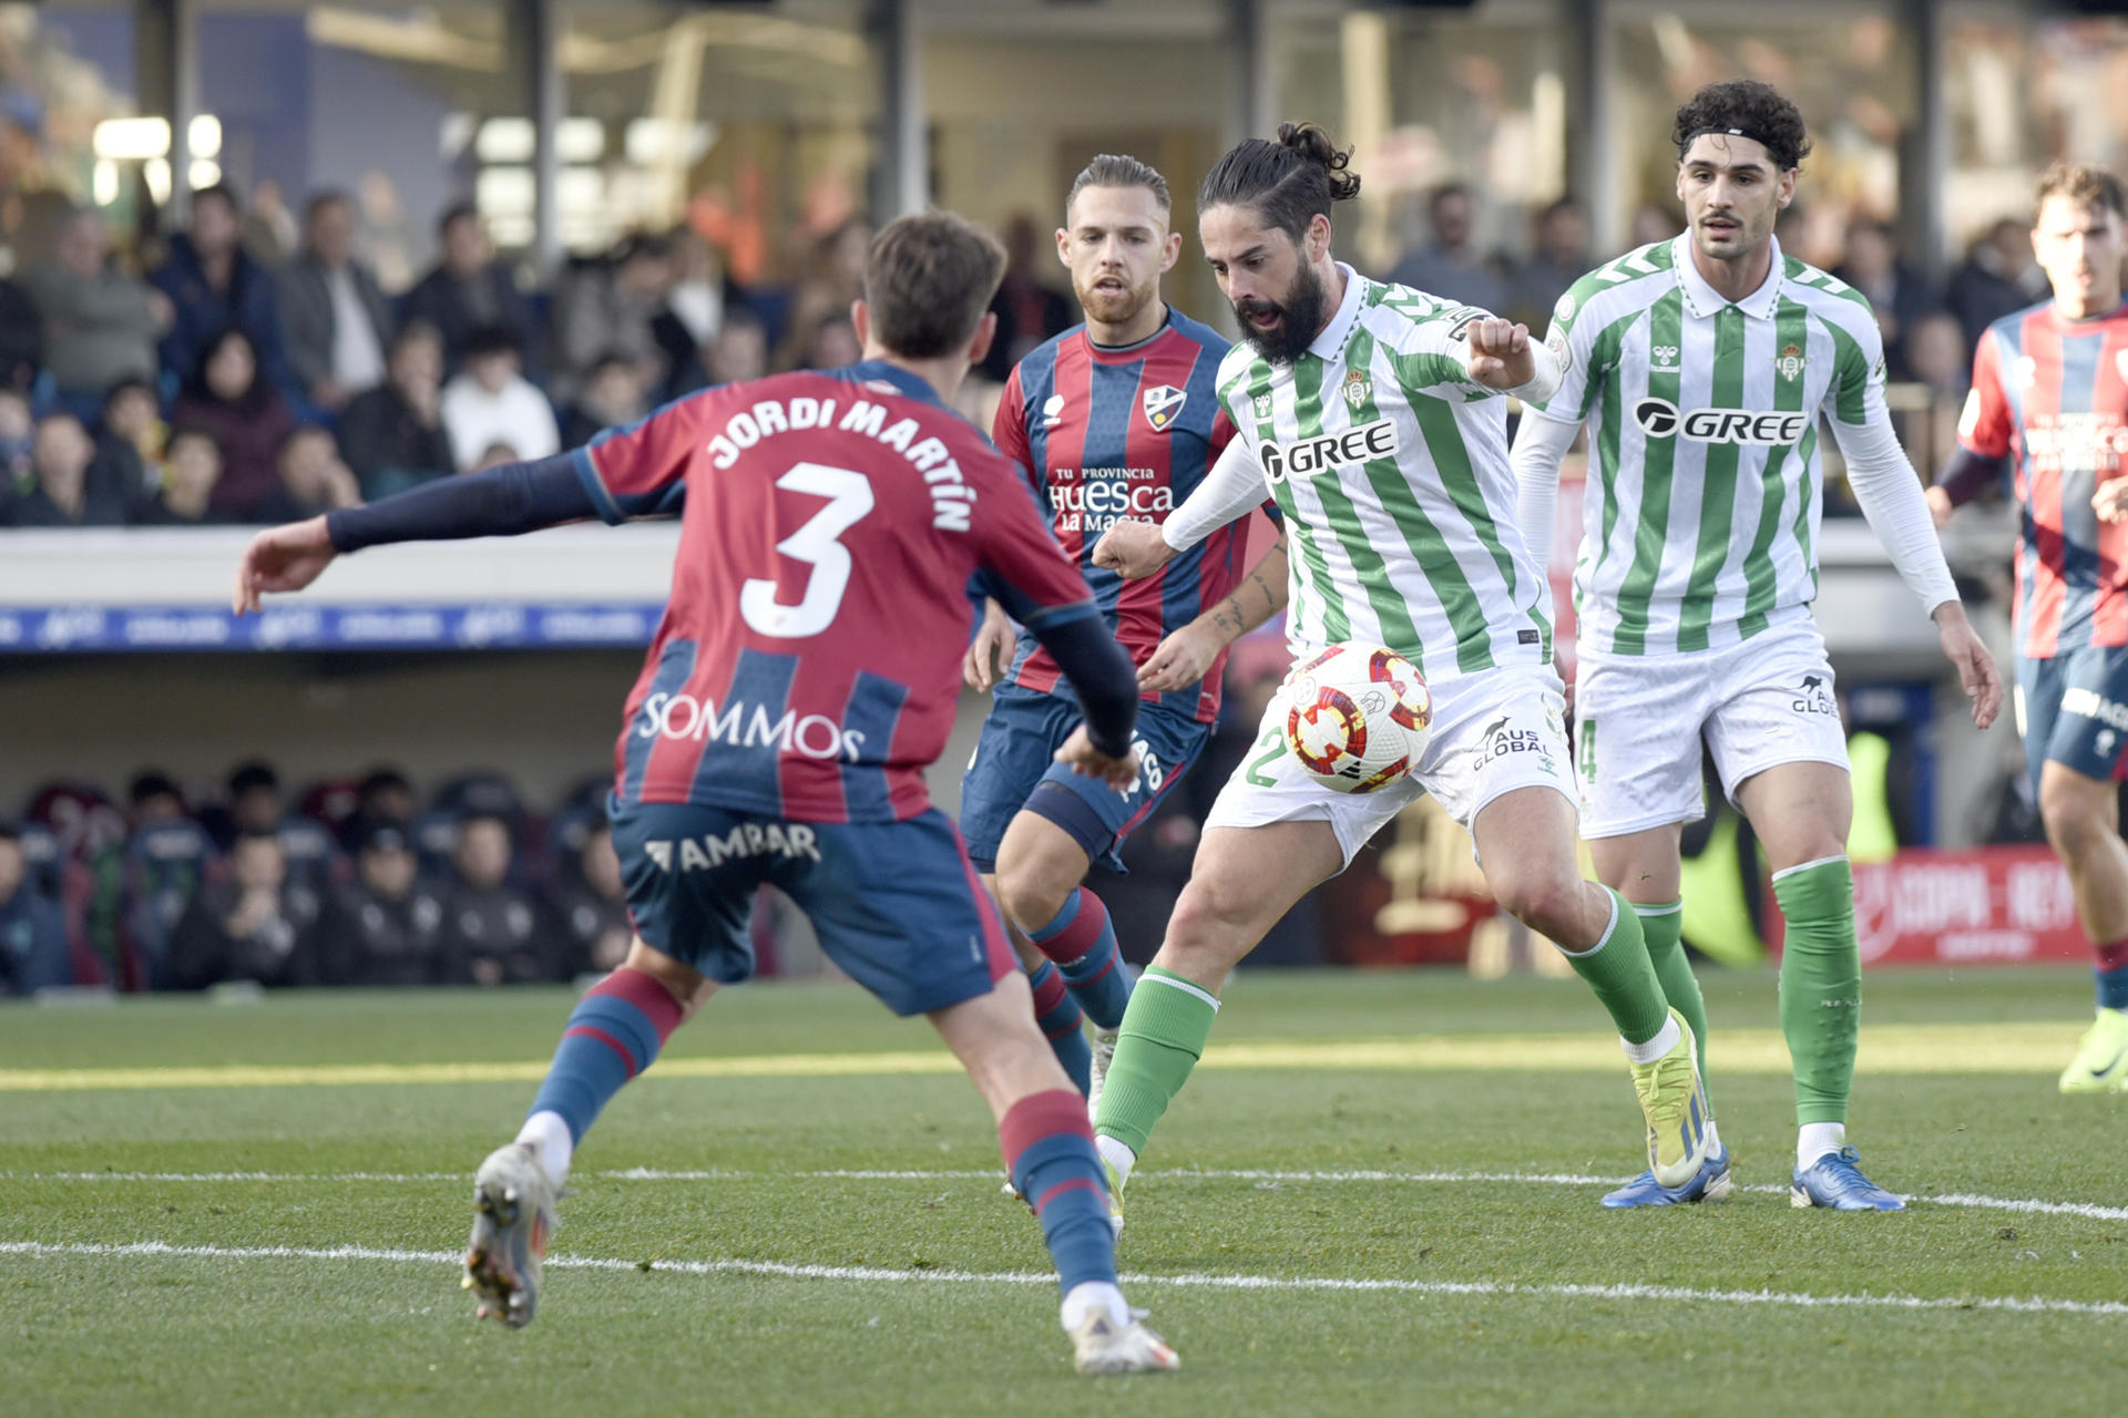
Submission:
[[[404,1265],[460,1265],[451,1250],[392,1250],[372,1246],[170,1246],[132,1244],[47,1244],[0,1242],[0,1254],[17,1256],[172,1256],[202,1261],[385,1261]],[[1055,1284],[1041,1271],[883,1269],[877,1265],[787,1265],[779,1261],[621,1261],[615,1256],[547,1256],[549,1269],[666,1271],[679,1276],[764,1276],[775,1280],[847,1280],[900,1284]],[[2128,1316],[2128,1303],[2111,1299],[2049,1299],[2043,1295],[1809,1295],[1800,1290],[1700,1290],[1662,1284],[1517,1284],[1504,1280],[1364,1280],[1339,1276],[1124,1276],[1132,1286],[1179,1286],[1196,1290],[1317,1290],[1439,1297],[1539,1297],[1539,1299],[1651,1299],[1696,1305],[1779,1305],[1790,1310],[2000,1310],[2011,1314]]]

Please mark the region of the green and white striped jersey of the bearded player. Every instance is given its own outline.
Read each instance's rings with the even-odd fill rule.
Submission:
[[[1345,300],[1298,359],[1245,340],[1219,366],[1219,400],[1285,512],[1294,651],[1385,644],[1436,682],[1549,661],[1504,400],[1464,368],[1464,327],[1485,313],[1339,270]]]

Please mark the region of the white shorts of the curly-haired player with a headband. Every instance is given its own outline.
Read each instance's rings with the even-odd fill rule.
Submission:
[[[1847,767],[1826,638],[1809,617],[1719,651],[1583,648],[1579,659],[1575,776],[1587,840],[1702,816],[1700,731],[1732,801],[1739,784],[1777,763]]]

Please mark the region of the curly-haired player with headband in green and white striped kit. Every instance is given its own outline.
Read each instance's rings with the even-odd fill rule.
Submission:
[[[1751,821],[1788,918],[1781,1029],[1796,1080],[1798,1208],[1900,1210],[1847,1146],[1862,965],[1847,827],[1853,795],[1826,642],[1811,619],[1824,504],[1819,421],[1892,563],[1985,727],[2000,702],[1883,404],[1868,300],[1781,253],[1775,215],[1809,151],[1802,115],[1764,83],[1715,83],[1677,111],[1690,230],[1590,272],[1547,347],[1560,389],[1515,438],[1519,521],[1549,551],[1560,457],[1590,429],[1575,565],[1581,835],[1641,916],[1668,1003],[1707,1040],[1679,944],[1679,831],[1700,816],[1700,736]],[[1700,1063],[1705,1069],[1705,1059]],[[1673,1205],[1730,1188],[1719,1135],[1700,1176],[1643,1176],[1605,1205]]]

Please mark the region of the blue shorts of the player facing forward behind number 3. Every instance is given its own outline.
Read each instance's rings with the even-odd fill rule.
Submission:
[[[1211,738],[1211,725],[1158,704],[1138,704],[1132,738],[1138,748],[1138,780],[1128,793],[1117,793],[1055,761],[1079,721],[1079,706],[1070,699],[998,689],[990,719],[983,721],[983,738],[960,780],[960,829],[968,833],[968,857],[979,872],[998,870],[998,844],[1021,808],[1070,833],[1087,861],[1104,861],[1121,872],[1115,848],[1145,821],[1160,795],[1181,782]]]

